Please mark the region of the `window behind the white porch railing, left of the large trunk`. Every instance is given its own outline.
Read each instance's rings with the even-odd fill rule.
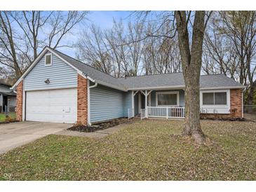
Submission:
[[[157,105],[161,106],[178,106],[179,93],[178,92],[156,92]]]

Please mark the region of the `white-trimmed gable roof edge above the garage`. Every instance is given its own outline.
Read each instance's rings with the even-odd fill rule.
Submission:
[[[29,67],[27,68],[27,70],[22,74],[22,76],[20,76],[20,78],[18,79],[18,81],[16,81],[14,83],[14,85],[10,88],[11,90],[15,89],[15,87],[20,83],[20,81],[22,81],[25,76],[27,76],[27,74],[29,74],[29,71],[31,71],[33,69],[33,67],[37,64],[37,62],[39,62],[39,60],[41,59],[41,57],[43,57],[43,55],[49,51],[50,53],[53,53],[54,55],[56,55],[60,60],[62,60],[63,62],[65,62],[66,64],[68,64],[70,67],[72,67],[73,69],[75,69],[77,71],[78,74],[80,74],[81,76],[83,76],[84,78],[88,78],[90,81],[95,82],[95,80],[93,78],[90,78],[90,76],[86,75],[83,71],[77,69],[76,67],[74,67],[73,64],[67,62],[67,60],[63,59],[62,57],[60,57],[60,55],[58,55],[58,53],[55,53],[51,48],[49,47],[45,47],[43,48],[43,50],[41,51],[41,53],[36,57],[36,59],[34,60],[34,62],[32,62],[32,64],[29,65]]]

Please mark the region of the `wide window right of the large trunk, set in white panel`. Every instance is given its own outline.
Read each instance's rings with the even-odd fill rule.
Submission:
[[[203,104],[227,104],[227,92],[203,92]]]

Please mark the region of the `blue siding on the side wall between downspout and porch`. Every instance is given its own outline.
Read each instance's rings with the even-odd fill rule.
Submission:
[[[90,122],[123,117],[123,92],[97,85],[90,89]]]

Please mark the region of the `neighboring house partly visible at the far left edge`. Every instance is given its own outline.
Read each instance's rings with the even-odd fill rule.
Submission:
[[[16,107],[16,93],[10,90],[11,86],[5,83],[0,83],[0,113],[15,111]],[[6,108],[8,107],[8,108]]]

